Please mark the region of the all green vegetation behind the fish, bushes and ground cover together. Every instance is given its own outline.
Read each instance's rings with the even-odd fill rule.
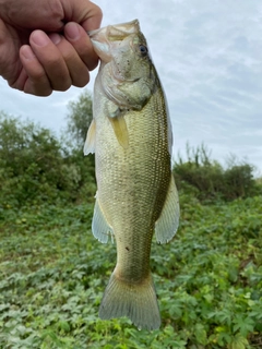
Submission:
[[[262,186],[252,167],[223,169],[204,147],[176,164],[180,227],[152,245],[163,324],[139,332],[127,318],[98,318],[116,246],[92,236],[94,160],[80,145],[0,119],[0,348],[262,348]],[[237,194],[224,189],[233,168]]]

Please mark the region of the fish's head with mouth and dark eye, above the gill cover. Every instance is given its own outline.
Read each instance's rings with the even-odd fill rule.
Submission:
[[[88,34],[102,64],[109,64],[115,85],[139,80],[154,83],[154,67],[138,20],[108,25]]]

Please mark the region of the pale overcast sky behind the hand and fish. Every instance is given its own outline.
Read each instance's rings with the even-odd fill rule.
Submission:
[[[224,161],[246,158],[262,174],[262,1],[97,0],[103,26],[139,19],[164,85],[175,137],[212,149]],[[97,71],[92,73],[93,88]],[[28,117],[59,132],[70,88],[40,98],[11,89],[0,79],[0,109]]]

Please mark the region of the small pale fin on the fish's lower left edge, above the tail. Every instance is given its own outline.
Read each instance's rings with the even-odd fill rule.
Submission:
[[[98,196],[98,195],[97,195]],[[96,196],[94,216],[92,220],[92,231],[94,237],[102,243],[107,243],[108,237],[114,234],[111,226],[108,224],[106,216],[100,207],[99,200]]]

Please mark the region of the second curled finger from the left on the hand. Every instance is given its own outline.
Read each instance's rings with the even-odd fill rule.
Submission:
[[[29,37],[32,50],[43,65],[52,89],[66,91],[71,77],[58,47],[41,31],[34,31]]]

